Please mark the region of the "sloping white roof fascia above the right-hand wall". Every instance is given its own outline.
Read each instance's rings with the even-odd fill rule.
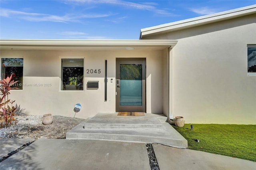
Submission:
[[[142,36],[155,34],[160,32],[172,32],[175,30],[181,30],[185,28],[191,28],[199,25],[209,24],[222,20],[228,20],[231,18],[238,18],[245,15],[256,14],[256,5],[246,6],[243,8],[237,8],[234,10],[228,10],[224,12],[218,12],[206,16],[200,16],[196,18],[190,18],[186,20],[180,20],[177,22],[170,22],[158,26],[143,28],[140,30],[140,39]]]

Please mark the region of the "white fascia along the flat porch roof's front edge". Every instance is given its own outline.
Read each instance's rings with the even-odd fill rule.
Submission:
[[[0,46],[174,46],[175,40],[0,40]]]

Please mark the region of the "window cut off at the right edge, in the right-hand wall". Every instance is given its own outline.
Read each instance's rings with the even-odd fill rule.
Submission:
[[[247,47],[248,75],[256,75],[256,45]]]

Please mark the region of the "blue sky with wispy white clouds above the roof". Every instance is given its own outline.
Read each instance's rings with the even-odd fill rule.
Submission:
[[[256,0],[0,0],[0,39],[138,40],[140,29]]]

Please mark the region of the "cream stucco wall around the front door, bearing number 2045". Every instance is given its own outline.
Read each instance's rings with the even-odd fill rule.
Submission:
[[[1,58],[24,58],[23,83],[50,83],[51,86],[23,86],[12,90],[10,98],[16,100],[26,114],[74,116],[74,105],[82,109],[76,117],[87,118],[97,113],[115,112],[116,58],[146,58],[146,112],[163,113],[162,51],[1,51]],[[84,91],[61,91],[61,59],[84,58]],[[107,101],[104,102],[104,70],[108,61]],[[87,74],[86,69],[101,69],[101,73]],[[113,79],[113,83],[111,83]],[[86,89],[87,81],[99,81],[96,90]]]

